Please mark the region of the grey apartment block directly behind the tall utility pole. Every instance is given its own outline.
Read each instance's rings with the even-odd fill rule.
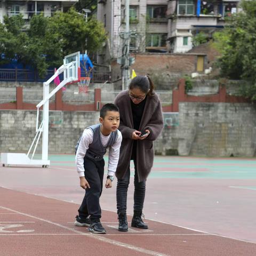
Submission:
[[[130,0],[130,52],[167,51],[166,0]],[[108,33],[104,58],[124,54],[125,0],[99,0],[98,20]],[[109,52],[109,55],[108,55]]]

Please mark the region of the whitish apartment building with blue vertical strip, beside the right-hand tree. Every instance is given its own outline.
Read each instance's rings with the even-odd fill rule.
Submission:
[[[203,32],[211,38],[214,31],[225,26],[225,17],[238,12],[239,0],[169,0],[167,7],[170,52],[187,52],[192,38]]]

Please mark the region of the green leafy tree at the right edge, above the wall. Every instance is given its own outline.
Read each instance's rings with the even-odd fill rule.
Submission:
[[[217,65],[221,76],[249,81],[241,95],[255,101],[256,1],[242,1],[241,7],[243,12],[231,15],[226,28],[214,34],[214,44],[221,53]]]

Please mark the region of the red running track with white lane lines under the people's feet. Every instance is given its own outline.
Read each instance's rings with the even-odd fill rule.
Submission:
[[[117,230],[116,213],[103,211],[106,235],[75,227],[77,205],[0,187],[1,256],[255,255],[256,244],[147,221],[148,230]],[[131,217],[129,216],[129,226]]]

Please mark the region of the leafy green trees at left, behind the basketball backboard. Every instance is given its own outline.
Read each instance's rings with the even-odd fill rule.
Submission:
[[[5,17],[4,24],[0,23],[0,63],[17,60],[33,67],[40,77],[45,76],[47,68],[61,66],[67,54],[97,52],[106,39],[101,23],[94,18],[86,22],[75,9],[50,18],[33,15],[26,32],[24,25],[22,15]]]

